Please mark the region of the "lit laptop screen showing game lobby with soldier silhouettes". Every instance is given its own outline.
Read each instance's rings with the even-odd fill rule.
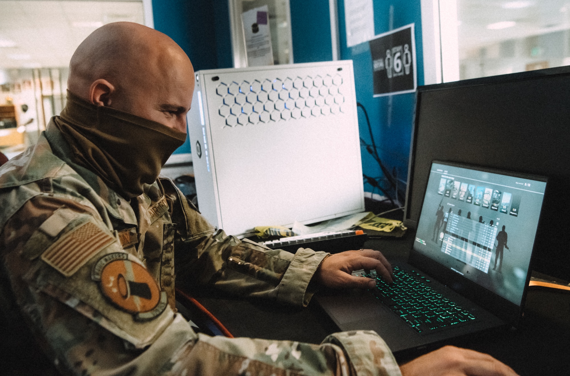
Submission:
[[[521,304],[546,182],[433,162],[414,250]]]

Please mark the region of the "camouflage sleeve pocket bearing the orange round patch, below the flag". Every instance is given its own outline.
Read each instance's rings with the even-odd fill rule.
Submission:
[[[37,259],[23,279],[143,349],[172,323],[174,312],[143,262],[120,247],[113,242],[69,277]]]

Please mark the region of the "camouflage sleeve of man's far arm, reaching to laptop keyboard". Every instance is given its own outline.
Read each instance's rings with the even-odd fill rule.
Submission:
[[[178,286],[213,283],[241,296],[306,306],[315,292],[312,276],[326,252],[271,250],[215,230],[167,179],[162,180],[177,223],[175,269]]]

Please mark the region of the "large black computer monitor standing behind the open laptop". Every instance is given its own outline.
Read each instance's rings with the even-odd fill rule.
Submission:
[[[570,280],[570,67],[418,87],[405,223],[434,160],[548,177],[532,269]]]

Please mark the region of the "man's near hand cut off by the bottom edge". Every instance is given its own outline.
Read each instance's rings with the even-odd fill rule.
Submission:
[[[445,346],[400,366],[402,376],[516,376],[491,355]]]

